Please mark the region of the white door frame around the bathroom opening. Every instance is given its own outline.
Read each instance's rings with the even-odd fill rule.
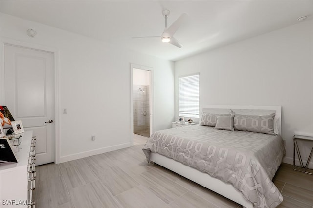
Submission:
[[[134,76],[134,68],[135,69],[140,69],[140,70],[146,70],[146,71],[150,71],[150,87],[149,87],[149,108],[150,108],[150,117],[149,117],[149,134],[151,135],[153,132],[153,115],[154,115],[154,90],[153,90],[153,68],[148,67],[148,66],[142,66],[142,65],[138,65],[138,64],[134,64],[131,63],[131,146],[133,146],[134,144],[134,101],[133,101],[133,88],[134,88],[134,84],[133,84],[133,76]],[[149,135],[149,136],[150,136]]]

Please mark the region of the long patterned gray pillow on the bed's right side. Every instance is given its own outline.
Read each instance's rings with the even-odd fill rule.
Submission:
[[[275,113],[264,116],[235,114],[234,129],[275,135],[274,117]]]

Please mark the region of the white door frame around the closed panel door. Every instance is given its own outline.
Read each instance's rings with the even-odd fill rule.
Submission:
[[[59,116],[59,80],[60,80],[60,73],[59,73],[59,49],[51,47],[51,46],[45,46],[45,45],[39,45],[35,43],[29,43],[29,42],[21,42],[14,39],[9,38],[1,38],[1,70],[0,70],[0,91],[5,90],[4,87],[4,78],[3,78],[3,70],[4,70],[4,45],[12,45],[17,47],[25,47],[29,49],[35,49],[35,50],[41,50],[41,51],[47,51],[50,53],[53,53],[54,56],[54,114],[55,114],[55,164],[60,163],[60,116]],[[0,103],[3,102],[0,97]]]

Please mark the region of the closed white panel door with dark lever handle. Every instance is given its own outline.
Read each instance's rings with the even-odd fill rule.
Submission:
[[[4,44],[2,76],[1,105],[37,137],[36,165],[54,162],[54,54]]]

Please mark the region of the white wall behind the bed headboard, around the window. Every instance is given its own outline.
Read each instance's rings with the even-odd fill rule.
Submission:
[[[200,72],[205,105],[281,105],[284,162],[292,163],[293,135],[313,134],[312,20],[175,62],[178,77]],[[175,95],[178,117],[178,90]],[[308,158],[310,146],[302,147]]]

